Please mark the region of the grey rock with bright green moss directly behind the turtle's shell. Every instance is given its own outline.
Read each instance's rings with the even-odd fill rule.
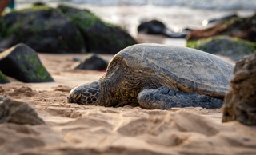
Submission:
[[[210,54],[220,54],[238,61],[247,55],[254,53],[256,43],[248,42],[240,38],[228,36],[216,36],[198,40],[188,40],[187,47],[202,50]]]

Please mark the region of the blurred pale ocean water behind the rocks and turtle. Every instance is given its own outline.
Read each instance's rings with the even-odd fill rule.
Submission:
[[[141,36],[137,34],[137,27],[145,20],[157,19],[170,30],[178,32],[184,28],[202,29],[206,27],[202,25],[203,21],[208,19],[230,14],[246,17],[256,11],[256,0],[15,0],[15,7],[19,9],[38,1],[50,6],[66,3],[80,9],[86,8],[106,22],[122,26],[138,39]],[[146,42],[186,44],[184,39],[146,39],[149,39]]]

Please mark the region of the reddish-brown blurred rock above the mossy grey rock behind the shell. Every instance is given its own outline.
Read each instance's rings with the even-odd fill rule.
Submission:
[[[250,18],[229,18],[219,22],[216,26],[204,30],[192,30],[186,36],[187,40],[208,38],[216,35],[228,35],[242,38],[250,42],[256,42],[256,14]]]

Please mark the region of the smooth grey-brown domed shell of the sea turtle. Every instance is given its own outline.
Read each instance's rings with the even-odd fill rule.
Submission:
[[[111,72],[116,61],[126,63],[131,73],[158,74],[172,81],[176,89],[219,98],[227,92],[234,70],[234,65],[213,54],[158,44],[137,44],[121,50],[106,72]]]

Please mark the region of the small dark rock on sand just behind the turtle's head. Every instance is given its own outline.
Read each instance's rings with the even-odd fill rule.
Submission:
[[[107,63],[97,54],[89,54],[82,59],[82,62],[76,62],[73,69],[79,70],[106,70]]]

